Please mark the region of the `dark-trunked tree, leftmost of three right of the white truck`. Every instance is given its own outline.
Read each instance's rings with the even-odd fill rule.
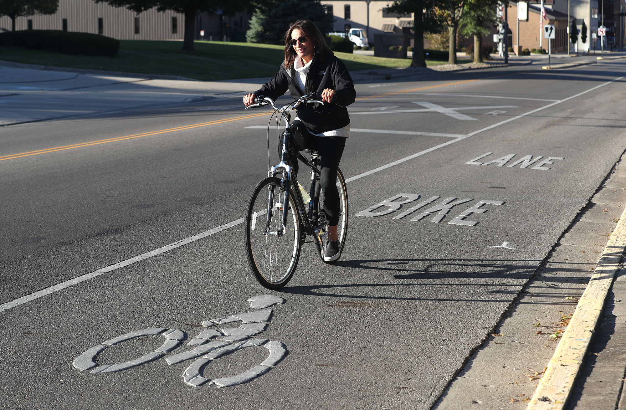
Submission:
[[[387,7],[388,13],[413,13],[413,60],[411,67],[426,67],[424,60],[424,33],[436,31],[439,22],[434,18],[431,10],[434,0],[394,0]]]

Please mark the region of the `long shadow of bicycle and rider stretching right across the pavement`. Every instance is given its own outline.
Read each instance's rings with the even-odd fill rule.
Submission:
[[[571,261],[568,261],[571,262]],[[572,264],[563,263],[568,267],[558,267],[560,262],[552,263],[557,267],[551,267],[546,270],[558,270],[562,273],[567,272],[587,272],[587,264]],[[380,292],[379,295],[364,294],[361,289],[373,289],[376,287],[382,289],[389,288],[424,288],[431,295],[432,292],[428,290],[429,287],[485,287],[490,289],[483,290],[485,294],[501,294],[501,295],[518,295],[524,291],[526,285],[531,280],[535,272],[542,269],[541,260],[533,259],[362,259],[362,260],[345,260],[334,264],[335,266],[368,270],[375,273],[379,273],[380,279],[392,279],[395,280],[392,283],[379,282],[379,283],[360,283],[360,284],[332,284],[332,285],[305,285],[285,287],[280,289],[279,292],[285,294],[300,294],[322,297],[341,297],[342,299],[383,299],[383,300],[423,300],[423,301],[442,301],[448,302],[511,302],[511,296],[504,299],[477,299],[472,297],[471,299],[461,298],[449,298],[449,297],[402,297],[384,295],[387,291]],[[411,266],[414,265],[414,266]],[[580,268],[573,267],[572,265],[581,265]],[[362,274],[357,274],[362,275]],[[489,280],[490,283],[485,285],[485,280]],[[503,281],[508,283],[503,283]],[[513,282],[511,282],[513,280]],[[561,283],[562,278],[558,277],[542,277],[542,282],[546,282],[545,292],[536,297],[541,298],[554,298],[562,299],[562,294],[551,291],[552,287],[549,282]],[[516,289],[511,289],[515,287]],[[536,285],[535,285],[536,287]],[[503,289],[505,288],[505,289]],[[332,289],[337,289],[333,292]],[[350,289],[352,293],[350,293]],[[369,292],[368,292],[369,293]],[[526,294],[526,296],[533,296],[533,294]],[[548,302],[532,301],[523,303],[533,304],[548,304]],[[549,302],[549,304],[559,303],[556,300]],[[564,303],[570,305],[568,303]]]

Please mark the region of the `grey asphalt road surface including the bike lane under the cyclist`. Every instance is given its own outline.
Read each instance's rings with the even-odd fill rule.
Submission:
[[[0,312],[1,405],[428,409],[625,149],[620,61],[357,85],[341,168],[360,178],[347,185],[348,239],[337,264],[323,264],[307,244],[289,285],[266,290],[235,225]],[[265,131],[247,127],[269,115],[250,111],[222,99],[1,129],[2,156],[80,146],[0,158],[0,302],[241,218],[267,172]],[[485,153],[475,162],[501,162],[467,163]],[[527,155],[543,158],[510,167]],[[540,165],[548,157],[563,159]],[[355,216],[400,193],[421,198],[382,217]],[[428,208],[393,218],[431,197],[440,197],[433,205],[471,200],[436,223],[436,212],[411,220]],[[483,203],[487,212],[464,219],[474,226],[447,223],[480,201],[503,204]],[[187,386],[192,361],[105,374],[73,367],[87,349],[138,329],[180,329],[192,339],[205,320],[255,310],[246,301],[255,295],[284,298],[255,337],[289,354],[245,384]],[[163,340],[122,342],[97,362],[130,361]],[[167,356],[192,349],[186,343]],[[233,352],[204,376],[232,376],[265,357],[263,347]]]

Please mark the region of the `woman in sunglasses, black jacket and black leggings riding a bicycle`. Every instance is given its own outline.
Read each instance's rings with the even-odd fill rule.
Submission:
[[[350,136],[350,118],[346,106],[354,103],[356,91],[344,63],[324,41],[316,24],[299,20],[285,33],[285,61],[274,79],[259,90],[244,96],[245,106],[254,104],[256,96],[276,100],[289,90],[294,98],[321,95],[324,105],[300,105],[293,125],[300,131],[305,145],[321,156],[320,185],[324,193],[324,210],[329,224],[324,260],[333,262],[341,256],[337,237],[339,192],[337,168]],[[290,164],[298,172],[298,161]]]

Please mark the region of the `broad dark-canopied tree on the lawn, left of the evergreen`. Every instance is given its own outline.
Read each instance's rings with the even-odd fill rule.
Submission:
[[[264,0],[95,0],[96,3],[108,3],[115,7],[126,7],[135,13],[141,13],[156,7],[157,11],[171,10],[185,14],[183,51],[195,51],[195,48],[193,48],[193,28],[195,27],[198,11],[222,10],[222,13],[226,16],[233,16],[244,9],[255,8],[257,3],[262,1]]]

